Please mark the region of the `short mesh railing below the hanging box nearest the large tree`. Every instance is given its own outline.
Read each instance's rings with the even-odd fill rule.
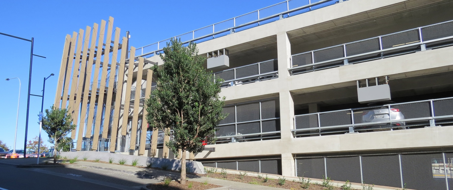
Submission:
[[[225,80],[221,88],[278,78],[277,59],[251,65],[240,66],[214,73],[217,78]]]

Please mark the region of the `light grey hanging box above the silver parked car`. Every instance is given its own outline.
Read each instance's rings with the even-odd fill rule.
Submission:
[[[371,103],[391,100],[388,84],[357,88],[359,103]]]

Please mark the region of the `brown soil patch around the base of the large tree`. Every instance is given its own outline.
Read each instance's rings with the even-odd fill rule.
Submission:
[[[181,185],[178,181],[170,181],[168,186],[164,185],[164,182],[160,182],[147,185],[146,187],[150,190],[208,190],[222,186],[197,181],[187,181],[186,185]]]

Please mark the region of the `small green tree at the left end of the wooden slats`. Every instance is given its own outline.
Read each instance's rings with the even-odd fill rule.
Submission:
[[[53,144],[53,147],[58,147],[62,139],[66,137],[68,133],[76,128],[76,125],[72,124],[71,114],[68,114],[67,109],[60,109],[51,107],[46,109],[46,116],[43,118],[43,129],[49,136],[49,142]],[[57,148],[53,150],[53,163],[57,163]]]

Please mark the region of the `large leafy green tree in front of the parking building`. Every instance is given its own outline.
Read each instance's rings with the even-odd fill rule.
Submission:
[[[222,80],[212,80],[212,71],[203,68],[205,57],[198,56],[195,43],[184,47],[181,40],[172,39],[160,54],[164,65],[152,67],[157,76],[157,89],[146,100],[149,128],[173,130],[173,139],[165,146],[181,157],[181,184],[186,182],[186,151],[204,149],[202,141],[215,142],[216,126],[222,114],[225,97],[220,98]]]

